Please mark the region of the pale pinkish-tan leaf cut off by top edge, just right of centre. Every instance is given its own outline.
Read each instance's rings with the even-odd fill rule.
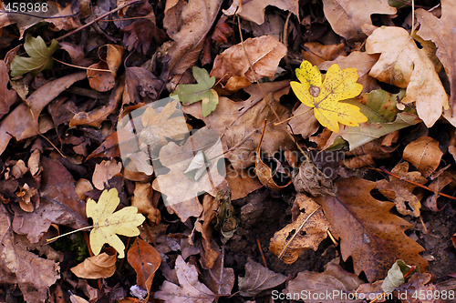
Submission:
[[[242,10],[238,10],[237,15],[240,15],[246,20],[253,21],[257,25],[262,25],[264,23],[264,11],[267,5],[273,5],[284,11],[293,13],[299,18],[298,0],[252,0],[244,2],[241,6]]]

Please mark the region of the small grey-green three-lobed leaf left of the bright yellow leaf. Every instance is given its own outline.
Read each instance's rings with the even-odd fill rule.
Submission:
[[[208,116],[219,104],[219,96],[212,89],[215,85],[215,77],[210,77],[205,69],[196,66],[193,66],[192,71],[198,84],[179,85],[171,96],[174,98],[177,96],[183,106],[202,101],[202,116]]]

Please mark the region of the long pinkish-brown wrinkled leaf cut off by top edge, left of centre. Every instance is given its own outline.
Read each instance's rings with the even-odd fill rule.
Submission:
[[[221,0],[167,1],[163,25],[175,43],[168,55],[172,74],[181,75],[192,67],[200,52],[204,39],[212,28],[219,13]]]

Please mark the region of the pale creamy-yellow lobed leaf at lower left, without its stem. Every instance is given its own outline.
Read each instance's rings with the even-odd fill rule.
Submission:
[[[119,252],[119,258],[125,257],[125,245],[116,234],[134,237],[140,235],[138,226],[146,219],[138,214],[137,207],[123,207],[114,212],[120,202],[116,188],[105,189],[98,199],[88,199],[87,217],[93,219],[93,229],[90,231],[90,247],[95,256],[105,243],[114,247]]]

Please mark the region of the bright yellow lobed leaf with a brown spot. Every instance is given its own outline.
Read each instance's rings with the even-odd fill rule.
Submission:
[[[338,133],[339,122],[346,126],[359,126],[359,123],[368,121],[358,106],[339,102],[361,93],[363,86],[357,83],[356,68],[341,70],[339,66],[332,65],[322,84],[318,68],[304,61],[296,68],[296,76],[300,83],[292,81],[291,88],[305,106],[314,107],[314,115],[322,126]]]

